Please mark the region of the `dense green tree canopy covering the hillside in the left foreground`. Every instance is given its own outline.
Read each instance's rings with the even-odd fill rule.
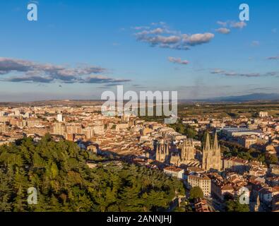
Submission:
[[[97,157],[49,135],[1,146],[0,182],[0,212],[156,211],[184,194],[182,182],[159,170]],[[37,189],[36,205],[28,204],[30,187]]]

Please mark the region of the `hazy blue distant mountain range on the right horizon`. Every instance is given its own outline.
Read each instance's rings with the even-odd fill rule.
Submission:
[[[213,97],[199,101],[206,102],[247,102],[256,100],[279,100],[279,93],[252,93],[249,95]]]

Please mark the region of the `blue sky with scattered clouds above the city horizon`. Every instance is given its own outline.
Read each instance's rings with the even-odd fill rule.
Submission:
[[[40,0],[38,21],[28,3],[0,2],[0,101],[278,93],[279,1]]]

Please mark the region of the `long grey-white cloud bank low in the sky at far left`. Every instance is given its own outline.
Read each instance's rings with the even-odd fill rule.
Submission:
[[[1,81],[34,82],[34,83],[121,83],[127,79],[108,78],[92,75],[105,73],[100,66],[83,66],[70,68],[54,64],[37,64],[34,61],[0,57],[0,75],[17,73],[18,76],[8,76]]]

